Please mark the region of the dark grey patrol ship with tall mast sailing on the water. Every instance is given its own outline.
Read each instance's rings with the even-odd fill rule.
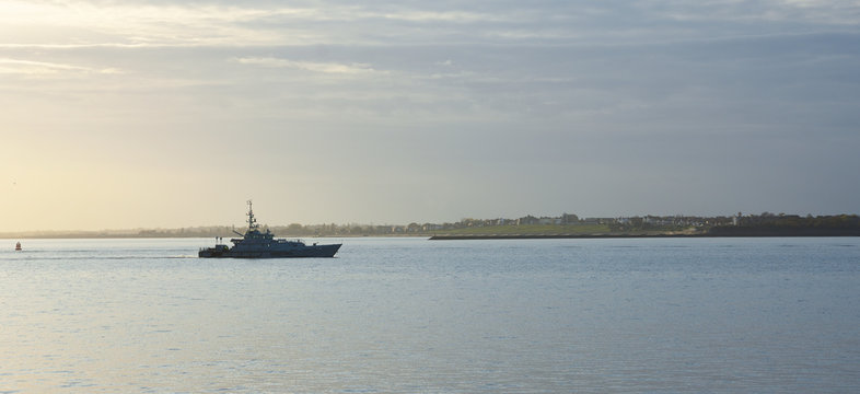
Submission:
[[[342,244],[329,245],[305,245],[301,240],[289,241],[276,239],[266,229],[259,231],[259,224],[254,218],[251,200],[248,200],[248,229],[245,234],[237,231],[234,233],[242,235],[241,239],[232,239],[233,247],[216,242],[214,247],[201,248],[199,257],[237,257],[237,258],[268,258],[268,257],[334,257],[337,250]],[[219,239],[220,240],[220,239]]]

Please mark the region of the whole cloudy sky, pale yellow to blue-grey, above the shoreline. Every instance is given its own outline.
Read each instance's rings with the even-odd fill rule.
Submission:
[[[0,231],[860,212],[860,1],[0,0]]]

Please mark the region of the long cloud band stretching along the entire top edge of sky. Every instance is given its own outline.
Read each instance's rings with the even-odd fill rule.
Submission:
[[[4,0],[0,48],[603,45],[860,24],[860,4],[849,0],[239,4]]]

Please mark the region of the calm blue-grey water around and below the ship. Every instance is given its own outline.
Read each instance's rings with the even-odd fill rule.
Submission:
[[[0,393],[860,390],[858,237],[15,241]]]

